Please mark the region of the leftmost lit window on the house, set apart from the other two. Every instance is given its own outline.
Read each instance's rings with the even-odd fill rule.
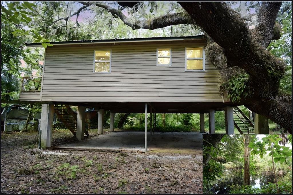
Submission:
[[[111,72],[111,50],[95,51],[93,72]]]

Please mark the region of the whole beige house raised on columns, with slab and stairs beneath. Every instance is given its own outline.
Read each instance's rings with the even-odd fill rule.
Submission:
[[[24,77],[17,101],[42,104],[42,148],[52,146],[53,113],[79,140],[58,146],[71,149],[95,146],[101,150],[129,151],[133,147],[147,152],[168,144],[176,148],[172,135],[178,135],[180,144],[189,140],[186,148],[196,149],[201,146],[200,135],[205,133],[204,113],[209,114],[207,133],[214,134],[216,111],[225,112],[226,134],[234,133],[234,126],[241,134],[260,132],[239,105],[231,103],[226,94],[219,94],[219,71],[205,57],[207,42],[203,35],[51,44],[54,46],[45,49],[42,77]],[[78,106],[77,116],[70,106]],[[86,108],[98,110],[99,135],[84,140],[88,136]],[[107,134],[103,134],[105,111],[111,111],[111,132]],[[145,132],[113,132],[115,113],[145,113]],[[185,133],[156,132],[157,113],[199,113],[200,133],[186,137]],[[260,124],[263,121],[259,120],[256,127],[262,127],[265,133],[266,128]]]

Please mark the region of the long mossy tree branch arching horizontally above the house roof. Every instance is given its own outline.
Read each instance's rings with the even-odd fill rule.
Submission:
[[[85,1],[76,1],[76,2],[83,4],[84,6],[91,4],[90,2],[85,2]],[[194,23],[193,20],[190,18],[190,16],[184,13],[166,14],[160,17],[156,17],[154,19],[140,21],[140,20],[136,20],[136,18],[134,19],[128,18],[126,15],[122,13],[120,9],[115,9],[106,4],[102,4],[100,2],[94,2],[93,5],[96,5],[100,8],[104,8],[109,13],[112,13],[114,17],[116,16],[119,17],[120,20],[122,20],[122,22],[125,25],[130,26],[133,30],[141,29],[141,28],[154,30],[157,28],[167,27],[171,25]]]

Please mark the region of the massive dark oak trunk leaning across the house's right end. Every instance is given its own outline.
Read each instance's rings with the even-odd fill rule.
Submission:
[[[221,2],[179,2],[195,23],[222,49],[227,68],[237,66],[249,75],[239,103],[292,132],[292,105],[272,100],[278,94],[284,64],[266,47],[273,38],[277,13],[282,2],[264,2],[258,25],[249,30],[245,21]],[[212,63],[214,63],[212,61]],[[242,93],[244,94],[244,93]]]

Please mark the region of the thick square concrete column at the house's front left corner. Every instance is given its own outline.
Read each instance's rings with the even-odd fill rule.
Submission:
[[[43,104],[41,113],[41,148],[51,147],[52,143],[52,128],[54,117],[54,105]]]

